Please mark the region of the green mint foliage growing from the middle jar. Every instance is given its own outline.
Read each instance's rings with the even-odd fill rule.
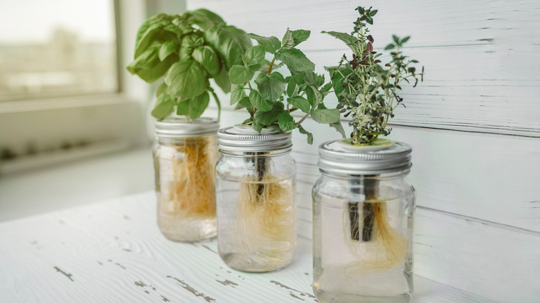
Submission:
[[[324,75],[314,73],[315,64],[295,48],[307,40],[309,34],[309,30],[287,29],[281,42],[273,36],[247,34],[259,45],[248,48],[241,55],[241,64],[233,65],[229,71],[233,84],[231,105],[236,104],[235,109],[245,108],[250,115],[243,125],[251,126],[259,133],[263,128],[298,129],[307,135],[309,144],[313,142],[313,135],[301,123],[310,115],[316,122],[343,131],[339,124],[339,109],[327,109],[323,103],[332,84],[324,84]],[[267,54],[272,57],[271,61],[265,59]],[[286,66],[291,75],[285,77],[276,71],[281,66]],[[253,77],[255,85],[251,83]],[[303,112],[298,121],[291,116],[294,111]]]

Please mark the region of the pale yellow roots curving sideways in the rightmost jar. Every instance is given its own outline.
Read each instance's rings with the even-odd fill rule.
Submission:
[[[380,273],[393,268],[405,257],[407,241],[390,226],[386,202],[373,202],[370,204],[375,218],[372,226],[374,232],[372,240],[368,242],[352,240],[349,233],[345,232],[346,237],[348,237],[345,242],[358,259],[358,261],[345,266],[345,277],[354,278],[367,273]],[[349,216],[348,210],[345,211],[345,216]],[[361,224],[359,230],[362,228]]]

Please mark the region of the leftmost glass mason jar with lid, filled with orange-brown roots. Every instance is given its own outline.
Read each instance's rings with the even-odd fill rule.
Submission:
[[[153,156],[157,221],[174,241],[215,237],[215,163],[219,123],[209,118],[156,121]]]

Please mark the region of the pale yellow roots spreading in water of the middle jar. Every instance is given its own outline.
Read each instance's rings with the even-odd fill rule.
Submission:
[[[264,176],[240,185],[237,252],[269,267],[280,266],[296,247],[295,189],[291,178],[282,181]]]

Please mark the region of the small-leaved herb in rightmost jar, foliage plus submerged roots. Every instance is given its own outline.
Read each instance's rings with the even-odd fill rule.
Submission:
[[[402,53],[402,46],[409,37],[393,36],[393,42],[384,49],[390,51],[390,61],[382,65],[381,53],[373,50],[374,39],[369,35],[368,24],[373,24],[377,10],[358,7],[360,17],[354,22],[354,31],[348,33],[324,32],[345,42],[352,50],[352,57],[343,55],[339,66],[327,67],[330,72],[334,93],[338,98],[338,109],[351,116],[352,126],[350,139],[346,143],[361,148],[380,147],[384,149],[393,144],[392,141],[379,136],[390,134],[387,129],[388,120],[394,117],[394,109],[402,103],[397,92],[404,82],[414,85],[419,79],[423,81],[422,72],[417,73],[413,64],[415,59],[408,59]],[[356,252],[361,261],[348,266],[350,273],[377,272],[392,268],[404,258],[406,240],[390,226],[386,210],[386,201],[379,199],[379,181],[377,175],[363,176],[363,186],[354,186],[352,194],[363,194],[363,202],[349,201],[345,216],[350,224],[346,226],[350,232],[350,249]],[[376,249],[368,252],[362,242],[375,243]]]

